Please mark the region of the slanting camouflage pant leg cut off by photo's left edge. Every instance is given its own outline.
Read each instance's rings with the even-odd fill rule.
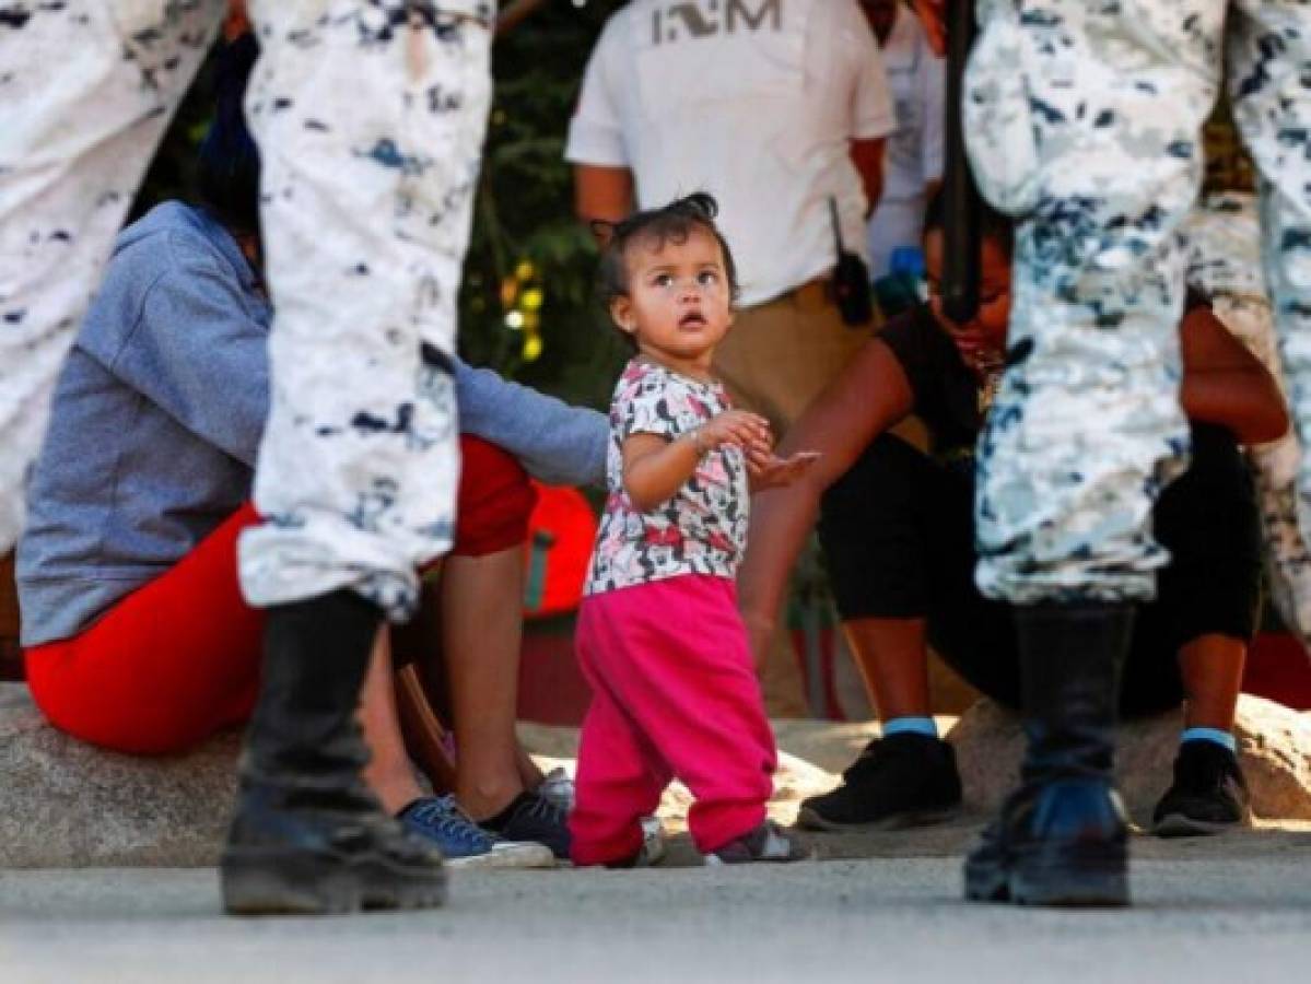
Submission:
[[[55,375],[224,0],[7,4],[0,18],[0,553]]]

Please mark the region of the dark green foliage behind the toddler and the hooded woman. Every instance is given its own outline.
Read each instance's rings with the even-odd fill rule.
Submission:
[[[598,407],[608,404],[624,351],[594,300],[597,253],[574,219],[562,155],[587,55],[620,5],[547,0],[497,39],[494,104],[460,290],[460,351],[468,362]],[[193,159],[210,101],[206,67],[160,145],[132,219],[168,198],[195,200]],[[502,307],[502,282],[524,261],[544,295],[543,350],[534,360],[524,358],[524,333],[506,326]]]

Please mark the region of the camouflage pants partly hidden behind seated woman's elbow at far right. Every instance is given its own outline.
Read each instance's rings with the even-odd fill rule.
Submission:
[[[1287,394],[1276,352],[1274,316],[1261,276],[1261,227],[1255,197],[1209,195],[1184,225],[1188,283],[1211,297],[1224,325],[1259,358]],[[1283,622],[1311,647],[1311,550],[1298,525],[1302,451],[1290,431],[1247,449],[1261,514],[1265,574]]]

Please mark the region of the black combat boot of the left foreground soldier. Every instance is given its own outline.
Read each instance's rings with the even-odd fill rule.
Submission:
[[[442,856],[387,816],[359,777],[355,722],[376,607],[350,591],[277,605],[220,874],[233,915],[429,908]]]

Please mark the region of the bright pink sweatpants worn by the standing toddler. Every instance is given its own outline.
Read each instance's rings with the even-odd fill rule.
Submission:
[[[577,650],[593,698],[574,863],[635,854],[638,818],[673,778],[696,797],[687,823],[701,853],[764,820],[777,756],[732,580],[690,574],[590,595]]]

